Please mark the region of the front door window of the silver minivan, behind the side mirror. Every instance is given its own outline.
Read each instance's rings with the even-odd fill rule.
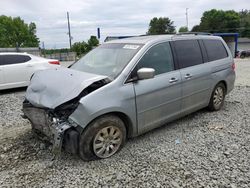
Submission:
[[[153,68],[155,74],[174,70],[172,51],[169,42],[157,44],[150,48],[137,65],[140,68]]]

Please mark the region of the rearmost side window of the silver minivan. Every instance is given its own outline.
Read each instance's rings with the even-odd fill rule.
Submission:
[[[225,46],[220,40],[203,40],[207,51],[208,60],[215,61],[228,57]]]

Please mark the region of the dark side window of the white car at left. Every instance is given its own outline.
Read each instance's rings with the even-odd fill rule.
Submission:
[[[31,58],[27,55],[2,55],[1,59],[2,65],[25,63],[31,60]]]

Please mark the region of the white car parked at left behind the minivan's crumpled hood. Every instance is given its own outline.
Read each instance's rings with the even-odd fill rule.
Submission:
[[[55,66],[60,66],[55,59],[27,53],[0,53],[0,90],[28,86],[34,72]]]

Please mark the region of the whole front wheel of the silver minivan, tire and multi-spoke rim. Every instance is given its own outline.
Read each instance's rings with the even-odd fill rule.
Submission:
[[[125,144],[126,128],[117,116],[105,115],[94,120],[81,134],[79,154],[85,160],[108,158]]]

